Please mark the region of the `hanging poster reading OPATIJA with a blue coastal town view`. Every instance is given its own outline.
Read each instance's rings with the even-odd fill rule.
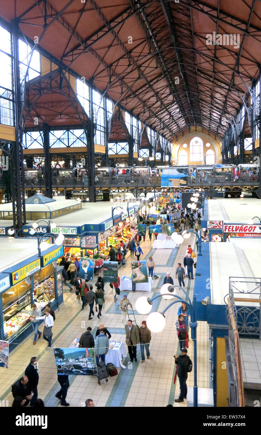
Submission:
[[[94,375],[97,365],[93,348],[54,348],[57,375]]]

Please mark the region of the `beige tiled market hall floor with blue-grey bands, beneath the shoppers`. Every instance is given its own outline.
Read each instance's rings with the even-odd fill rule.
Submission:
[[[159,293],[164,276],[167,271],[171,273],[174,284],[178,284],[175,277],[177,263],[183,263],[187,244],[194,245],[195,238],[191,235],[186,243],[181,244],[176,249],[158,249],[153,250],[153,241],[141,242],[141,248],[144,255],[141,260],[146,259],[149,255],[153,256],[156,264],[156,274],[159,276],[153,281],[151,293],[137,291],[136,293],[125,292],[128,294],[133,306],[135,300],[142,295],[152,296]],[[119,269],[120,277],[131,274],[130,254],[127,254],[126,266]],[[185,279],[185,289],[189,291],[190,297],[193,293],[194,281]],[[177,293],[184,296],[181,291]],[[122,293],[118,297],[122,298]],[[162,311],[169,301],[158,298],[157,303],[153,306],[154,311]],[[175,321],[177,319],[177,310],[179,304],[173,305],[166,313],[166,327],[159,334],[152,334],[150,352],[151,358],[145,359],[141,364],[141,353],[138,346],[137,362],[132,367],[128,365],[129,356],[124,360],[126,369],[118,368],[118,375],[110,378],[108,384],[97,384],[96,377],[71,376],[70,388],[67,394],[67,401],[71,406],[85,406],[87,398],[94,400],[95,406],[154,406],[162,407],[168,403],[174,404],[174,398],[179,394],[179,382],[173,384],[175,365],[173,355],[179,353],[177,331]],[[68,347],[74,338],[79,338],[87,326],[93,328],[95,335],[96,327],[100,320],[96,315],[93,320],[88,320],[88,307],[81,311],[81,306],[75,301],[75,295],[69,293],[67,287],[64,287],[64,303],[60,305],[59,311],[56,311],[56,321],[54,324],[52,346]],[[134,311],[135,312],[135,311]],[[133,316],[132,316],[133,317]],[[146,320],[147,315],[139,315],[135,312],[138,325],[142,320]],[[122,316],[118,308],[118,301],[115,303],[112,290],[108,284],[105,284],[105,310],[102,314],[104,325],[111,331],[112,340],[125,342],[125,330],[122,323]],[[116,328],[116,329],[115,329]],[[42,327],[40,328],[42,330]],[[8,400],[12,404],[13,397],[10,392],[10,385],[20,378],[26,366],[29,364],[32,356],[37,356],[39,360],[40,381],[38,386],[38,397],[42,398],[47,406],[60,406],[55,397],[60,385],[57,381],[57,371],[54,361],[53,351],[47,350],[46,342],[43,339],[37,341],[33,346],[33,334],[27,338],[17,349],[10,354],[10,368],[0,371],[0,400]],[[127,349],[126,349],[127,350]],[[127,354],[127,353],[126,353]],[[128,354],[127,354],[128,355]],[[193,343],[189,341],[188,355],[193,361]],[[260,357],[261,358],[261,357]],[[260,361],[261,362],[261,361]],[[208,326],[206,322],[198,322],[197,327],[197,385],[207,388],[208,383]],[[187,385],[193,386],[193,371],[188,374]],[[186,406],[186,401],[176,406]]]

